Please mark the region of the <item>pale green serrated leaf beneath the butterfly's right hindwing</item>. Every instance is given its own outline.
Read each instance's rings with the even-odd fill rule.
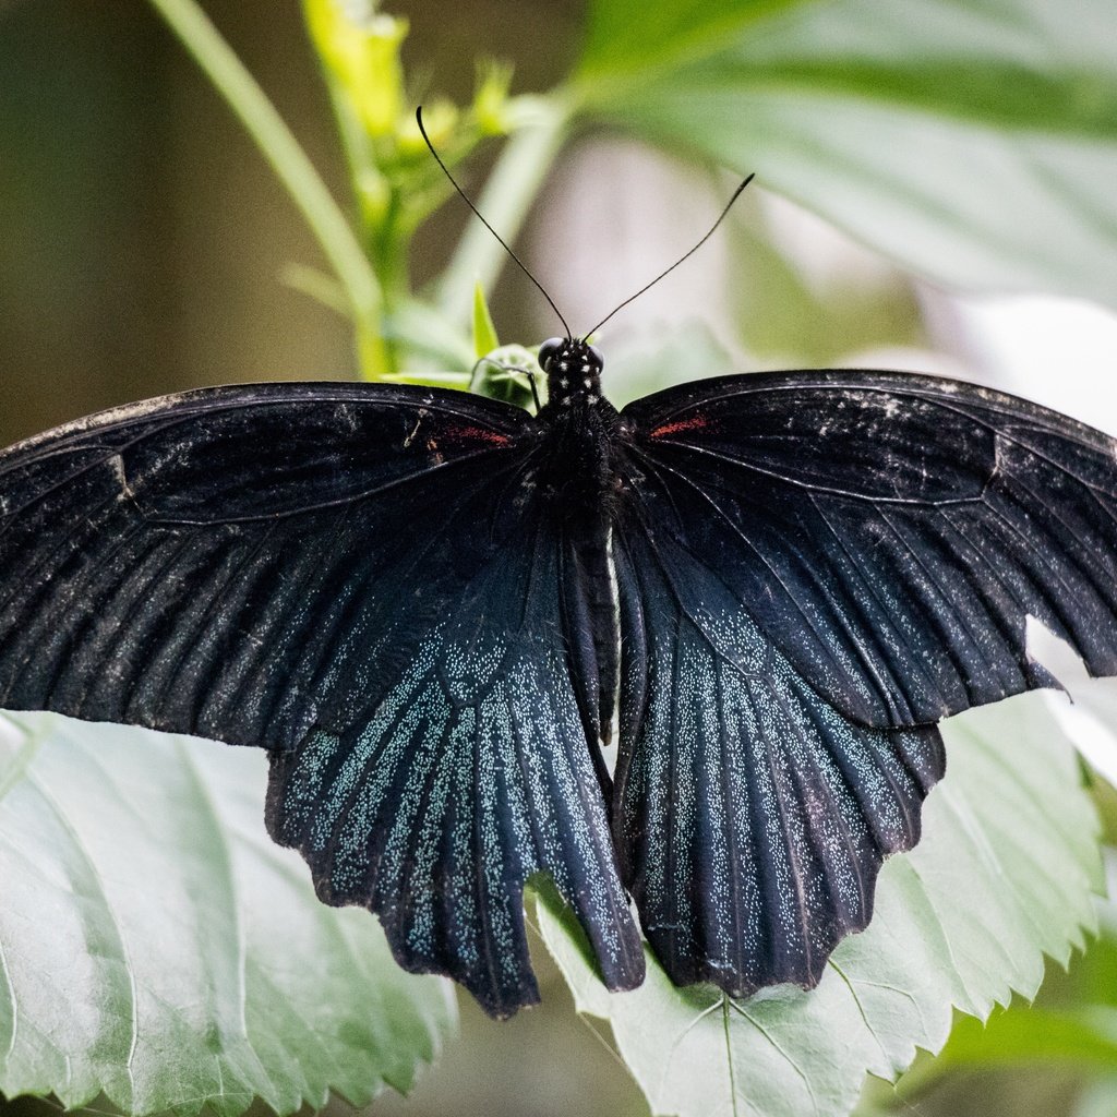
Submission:
[[[1098,820],[1044,700],[947,725],[923,841],[885,865],[871,924],[813,991],[733,1001],[676,989],[649,956],[641,989],[608,993],[572,917],[543,894],[543,935],[580,1011],[609,1021],[653,1113],[848,1114],[866,1073],[895,1079],[917,1047],[938,1050],[955,1008],[984,1019],[1012,991],[1032,996],[1043,956],[1066,963],[1081,947],[1100,886]]]

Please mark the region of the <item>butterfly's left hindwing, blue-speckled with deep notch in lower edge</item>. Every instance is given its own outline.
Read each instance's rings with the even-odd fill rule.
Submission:
[[[397,958],[449,973],[493,1014],[537,1000],[522,913],[547,870],[610,987],[643,976],[571,678],[554,526],[480,573],[373,714],[275,754],[268,821],[328,903],[379,911]]]

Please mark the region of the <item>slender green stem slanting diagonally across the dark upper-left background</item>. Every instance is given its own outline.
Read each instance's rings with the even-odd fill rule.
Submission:
[[[369,260],[314,164],[251,74],[195,0],[151,0],[214,88],[240,118],[287,188],[345,289],[367,376],[390,370],[380,337],[381,294]]]

